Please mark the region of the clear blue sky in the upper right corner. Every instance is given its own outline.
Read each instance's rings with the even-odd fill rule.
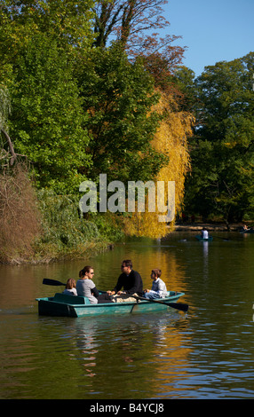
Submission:
[[[254,0],[168,0],[163,10],[167,33],[182,36],[173,44],[188,47],[183,64],[196,76],[254,51]]]

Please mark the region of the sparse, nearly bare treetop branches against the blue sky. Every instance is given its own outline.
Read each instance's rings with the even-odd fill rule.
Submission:
[[[157,87],[181,64],[185,48],[173,45],[180,36],[169,35],[170,22],[163,17],[166,0],[98,1],[94,7],[96,47],[110,42],[122,45],[132,61],[144,59]],[[163,32],[167,35],[162,35]],[[160,80],[160,85],[158,81]]]

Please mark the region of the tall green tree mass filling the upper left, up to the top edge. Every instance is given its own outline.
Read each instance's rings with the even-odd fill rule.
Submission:
[[[17,2],[0,9],[0,83],[10,93],[10,136],[27,156],[36,184],[58,193],[78,190],[88,134],[75,80],[91,47],[92,0]]]

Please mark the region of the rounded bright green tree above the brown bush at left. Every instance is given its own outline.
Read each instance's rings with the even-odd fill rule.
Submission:
[[[38,186],[58,193],[78,190],[85,153],[82,100],[67,54],[57,41],[38,33],[20,50],[13,65],[11,136],[27,155]]]

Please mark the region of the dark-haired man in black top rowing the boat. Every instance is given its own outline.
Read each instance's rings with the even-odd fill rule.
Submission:
[[[131,259],[126,259],[122,262],[121,270],[122,273],[117,280],[115,288],[112,291],[107,291],[107,294],[114,295],[113,301],[116,303],[134,301],[135,299],[131,295],[143,295],[143,281],[139,272],[132,270]],[[122,288],[123,291],[121,291]],[[128,297],[127,295],[130,296]]]

